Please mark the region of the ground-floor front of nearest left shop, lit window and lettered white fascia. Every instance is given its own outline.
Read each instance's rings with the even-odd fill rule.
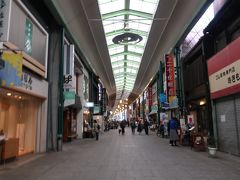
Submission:
[[[47,88],[46,81],[26,71],[19,86],[0,88],[0,130],[6,137],[5,159],[46,151]]]

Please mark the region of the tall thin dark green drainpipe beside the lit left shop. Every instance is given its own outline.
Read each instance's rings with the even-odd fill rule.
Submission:
[[[60,62],[59,62],[59,102],[58,102],[58,131],[57,131],[57,151],[62,151],[63,140],[63,64],[64,64],[64,28],[61,29],[61,44],[60,44]]]

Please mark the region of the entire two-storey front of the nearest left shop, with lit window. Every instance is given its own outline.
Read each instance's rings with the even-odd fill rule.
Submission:
[[[48,33],[21,1],[1,1],[0,129],[4,159],[45,152]]]

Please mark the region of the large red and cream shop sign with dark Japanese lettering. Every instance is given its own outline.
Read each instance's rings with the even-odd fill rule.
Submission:
[[[236,39],[208,60],[208,74],[212,99],[239,92],[239,47],[240,38]]]

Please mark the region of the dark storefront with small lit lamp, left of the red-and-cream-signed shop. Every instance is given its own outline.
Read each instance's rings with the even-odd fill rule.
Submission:
[[[208,136],[212,131],[211,100],[208,87],[205,41],[200,40],[182,59],[186,117],[192,118],[195,131]],[[188,123],[188,121],[186,121]]]

